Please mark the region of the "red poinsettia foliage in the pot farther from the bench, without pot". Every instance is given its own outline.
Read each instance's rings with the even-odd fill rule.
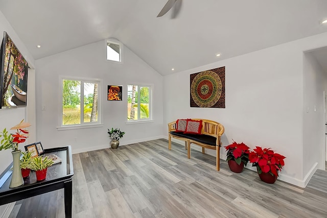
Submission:
[[[249,154],[250,163],[252,163],[252,166],[256,166],[259,174],[262,172],[270,173],[276,177],[278,176],[278,171],[282,171],[285,165],[285,158],[286,157],[275,153],[270,148],[262,149],[258,146]]]

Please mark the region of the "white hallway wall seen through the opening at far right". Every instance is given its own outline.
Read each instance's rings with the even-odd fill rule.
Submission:
[[[324,93],[327,73],[311,52],[303,56],[303,174],[310,167],[324,169]],[[319,163],[319,164],[318,164]]]

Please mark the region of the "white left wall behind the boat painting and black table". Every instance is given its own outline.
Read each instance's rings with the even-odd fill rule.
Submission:
[[[13,30],[5,16],[2,12],[0,12],[0,40],[2,41],[3,38],[3,32],[6,31],[12,41],[17,46],[18,50],[21,52],[21,54],[25,57],[30,67],[34,68],[34,59],[32,58],[29,51],[26,49],[26,46],[17,36],[16,32]],[[31,124],[35,125],[35,122],[33,120],[33,116],[31,114],[35,113],[35,103],[33,101],[33,98],[31,96],[33,93],[33,86],[34,86],[34,72],[32,70],[31,77],[30,77],[30,71],[28,74],[28,108],[10,108],[10,109],[0,109],[0,131],[3,131],[4,128],[10,129],[11,127],[15,126],[20,122],[21,119],[25,119],[26,121],[30,122]],[[29,102],[29,100],[31,101]],[[35,118],[35,117],[34,117]],[[27,139],[26,143],[19,144],[19,149],[24,149],[24,144],[32,143],[34,142],[33,139],[35,138],[35,131],[30,130],[30,137]],[[33,130],[33,127],[32,127]],[[12,132],[11,132],[12,133]],[[0,151],[0,174],[4,172],[5,168],[12,162],[12,155],[11,150],[6,151]],[[11,208],[13,207],[13,204],[6,204],[0,206],[0,217],[7,216]]]

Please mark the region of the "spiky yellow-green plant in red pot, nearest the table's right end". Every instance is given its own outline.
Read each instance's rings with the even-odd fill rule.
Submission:
[[[35,171],[36,180],[42,181],[46,178],[46,171],[49,166],[52,166],[53,160],[47,156],[33,157],[31,160],[31,169]]]

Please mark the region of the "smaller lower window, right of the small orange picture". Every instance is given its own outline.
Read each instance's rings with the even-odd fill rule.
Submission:
[[[151,86],[127,85],[127,121],[151,119]]]

